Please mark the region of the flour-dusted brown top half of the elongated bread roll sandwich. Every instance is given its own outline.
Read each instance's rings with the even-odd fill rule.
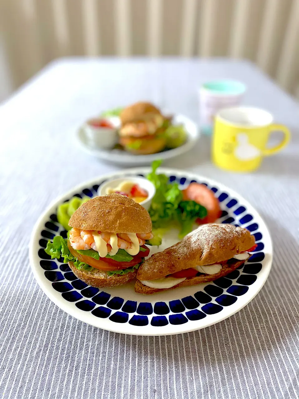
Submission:
[[[242,227],[206,224],[182,241],[153,254],[138,269],[138,280],[155,280],[195,266],[226,261],[254,245],[254,237]]]

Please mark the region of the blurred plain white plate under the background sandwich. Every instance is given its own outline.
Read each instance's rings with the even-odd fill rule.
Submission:
[[[184,154],[185,152],[191,150],[191,148],[193,148],[197,142],[199,138],[199,130],[197,125],[191,119],[183,115],[176,115],[173,117],[173,124],[183,124],[185,126],[185,130],[187,132],[187,141],[180,147],[173,148],[172,150],[168,151],[158,152],[157,154],[134,155],[122,150],[102,150],[99,148],[92,148],[88,144],[85,132],[82,128],[76,132],[76,139],[83,151],[105,161],[126,166],[150,165],[155,159],[165,160]]]

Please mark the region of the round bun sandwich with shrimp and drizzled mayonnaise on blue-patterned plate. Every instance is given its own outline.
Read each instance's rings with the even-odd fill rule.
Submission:
[[[149,249],[151,219],[140,204],[120,194],[83,203],[69,220],[67,248],[73,273],[94,287],[113,287],[136,278]]]

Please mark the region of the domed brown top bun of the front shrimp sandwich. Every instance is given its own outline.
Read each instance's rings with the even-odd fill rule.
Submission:
[[[148,211],[121,194],[94,197],[83,203],[69,220],[71,227],[111,233],[149,233]]]

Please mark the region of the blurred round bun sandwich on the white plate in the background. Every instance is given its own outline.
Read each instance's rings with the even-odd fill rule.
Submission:
[[[166,146],[165,117],[151,103],[138,102],[120,113],[119,143],[134,154],[154,154]]]

